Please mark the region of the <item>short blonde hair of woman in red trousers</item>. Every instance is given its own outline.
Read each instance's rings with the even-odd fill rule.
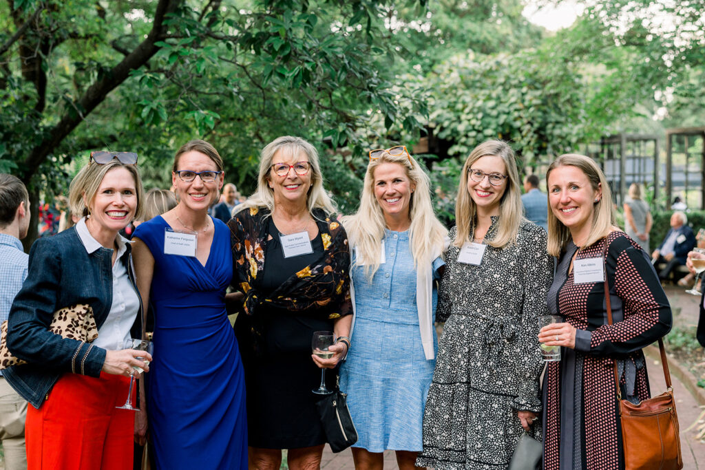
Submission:
[[[68,204],[71,207],[73,214],[78,214],[82,217],[90,213],[88,206],[93,203],[95,194],[98,192],[100,183],[103,182],[105,175],[113,168],[125,168],[129,171],[135,180],[135,189],[137,190],[137,207],[135,208],[135,218],[142,217],[144,211],[145,190],[142,187],[142,178],[137,165],[126,165],[118,159],[112,159],[104,165],[89,161],[89,163],[81,168],[77,175],[71,180],[71,186],[68,188]],[[88,206],[86,205],[88,202]]]

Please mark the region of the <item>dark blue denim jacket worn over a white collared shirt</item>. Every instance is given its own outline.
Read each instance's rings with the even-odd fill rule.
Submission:
[[[125,265],[137,292],[130,248],[128,244],[119,262]],[[73,227],[40,238],[30,249],[29,273],[12,304],[7,335],[8,350],[29,364],[11,366],[3,375],[37,409],[63,373],[100,376],[104,349],[61,338],[48,328],[54,311],[73,304],[90,304],[100,329],[113,302],[112,254],[113,250],[104,247],[89,254]],[[137,297],[140,312],[130,331],[133,338],[142,334],[139,292]]]

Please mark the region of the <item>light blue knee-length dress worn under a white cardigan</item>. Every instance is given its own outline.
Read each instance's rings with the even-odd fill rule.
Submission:
[[[372,282],[364,266],[350,272],[355,285],[355,326],[340,388],[357,428],[357,443],[369,452],[422,450],[426,395],[436,359],[427,360],[416,305],[416,270],[408,230],[385,229],[386,262]],[[354,255],[353,255],[354,256]],[[443,260],[434,261],[434,279]],[[434,283],[433,310],[437,293]],[[434,314],[435,316],[435,314]],[[434,335],[434,356],[438,347]]]

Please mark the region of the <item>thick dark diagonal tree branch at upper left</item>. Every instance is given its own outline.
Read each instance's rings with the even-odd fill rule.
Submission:
[[[142,67],[154,54],[157,54],[159,47],[154,45],[161,35],[166,31],[164,25],[165,17],[168,13],[173,13],[176,8],[183,3],[183,0],[159,0],[157,10],[154,13],[152,30],[147,38],[140,43],[123,61],[114,66],[103,78],[94,82],[78,101],[73,104],[73,109],[69,109],[63,114],[59,123],[47,132],[42,139],[23,161],[25,169],[24,180],[29,182],[37,172],[39,165],[44,163],[47,156],[66,138],[81,120],[85,118],[96,106],[102,103],[107,94],[127,80],[130,71]]]

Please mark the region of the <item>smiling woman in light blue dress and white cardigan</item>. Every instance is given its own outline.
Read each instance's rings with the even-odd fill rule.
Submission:
[[[360,209],[343,221],[355,314],[341,390],[357,428],[355,468],[381,469],[382,452],[396,450],[399,468],[413,469],[436,364],[434,280],[447,231],[406,147],[369,158]]]

